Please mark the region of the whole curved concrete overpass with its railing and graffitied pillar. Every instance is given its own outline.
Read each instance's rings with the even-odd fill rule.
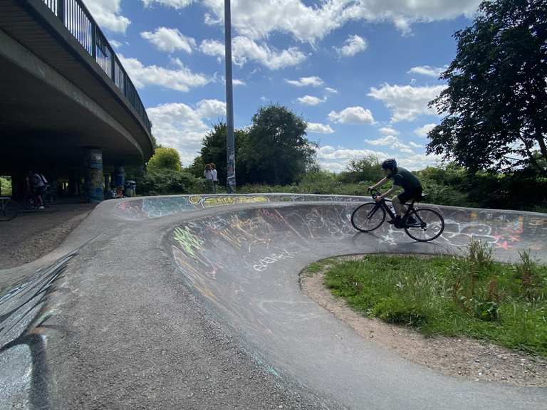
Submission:
[[[145,107],[82,0],[0,0],[0,73],[0,174],[16,191],[39,169],[98,201],[103,175],[152,155]]]

